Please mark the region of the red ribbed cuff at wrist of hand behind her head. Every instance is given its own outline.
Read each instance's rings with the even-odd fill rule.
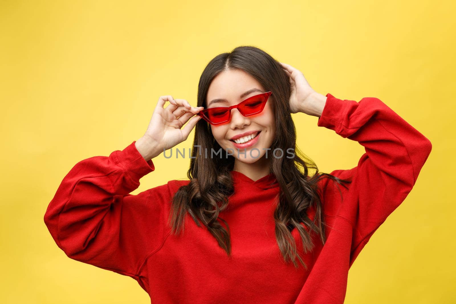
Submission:
[[[342,124],[348,103],[345,100],[332,96],[330,93],[327,93],[326,97],[325,107],[318,119],[317,125],[334,130],[337,133]]]

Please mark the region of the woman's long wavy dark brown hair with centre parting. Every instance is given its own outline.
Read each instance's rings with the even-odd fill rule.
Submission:
[[[319,235],[321,242],[326,242],[325,223],[323,219],[321,200],[318,196],[317,182],[326,176],[337,183],[349,183],[327,173],[319,173],[316,164],[307,158],[296,147],[296,129],[290,114],[290,82],[289,76],[273,57],[254,46],[238,46],[229,53],[214,57],[205,67],[198,84],[197,106],[206,107],[207,91],[212,79],[220,72],[230,69],[241,69],[256,78],[266,91],[273,92],[274,112],[276,122],[276,138],[271,145],[271,151],[280,148],[285,151],[292,148],[295,157],[272,157],[270,171],[274,173],[280,185],[280,195],[274,212],[275,238],[280,252],[286,263],[299,259],[307,269],[306,263],[297,254],[296,244],[291,231],[296,228],[301,236],[304,252],[310,252],[314,244],[311,240],[312,231]],[[199,148],[197,148],[199,146]],[[201,149],[201,150],[199,150]],[[188,212],[198,227],[202,224],[217,239],[220,247],[231,255],[231,242],[228,223],[218,215],[228,206],[228,197],[233,194],[233,180],[230,171],[233,170],[234,157],[227,155],[221,149],[220,157],[202,157],[201,151],[221,149],[214,139],[210,125],[200,119],[195,126],[192,158],[187,177],[188,185],[181,186],[173,197],[171,216],[171,233],[179,234],[184,230],[184,220]],[[315,170],[309,176],[309,169]],[[347,186],[344,185],[347,188]],[[339,189],[340,190],[340,189]],[[315,217],[311,221],[306,211],[315,208]],[[254,215],[252,215],[254,216]],[[225,229],[220,221],[222,221]],[[300,224],[304,224],[310,231]]]

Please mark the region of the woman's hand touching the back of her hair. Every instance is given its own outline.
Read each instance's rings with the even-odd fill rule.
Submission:
[[[306,99],[315,91],[307,82],[304,74],[289,64],[280,62],[285,72],[290,77],[291,95],[290,95],[290,112],[306,113]],[[307,114],[307,113],[306,113]]]

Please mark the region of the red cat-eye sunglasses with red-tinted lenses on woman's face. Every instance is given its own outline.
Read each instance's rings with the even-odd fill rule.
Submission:
[[[244,116],[250,116],[261,113],[263,111],[266,102],[272,92],[261,93],[252,97],[249,97],[240,103],[231,107],[212,107],[201,110],[197,113],[209,124],[218,125],[228,123],[231,120],[231,109],[237,108],[238,111]]]

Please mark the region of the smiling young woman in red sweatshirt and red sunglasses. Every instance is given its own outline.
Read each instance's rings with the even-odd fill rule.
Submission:
[[[290,113],[366,153],[319,173]],[[130,195],[194,127],[189,180]],[[239,46],[208,63],[197,107],[161,96],[140,139],[78,162],[44,221],[69,258],[135,278],[152,303],[343,303],[348,269],[431,147],[378,98],[323,96],[294,67]]]

